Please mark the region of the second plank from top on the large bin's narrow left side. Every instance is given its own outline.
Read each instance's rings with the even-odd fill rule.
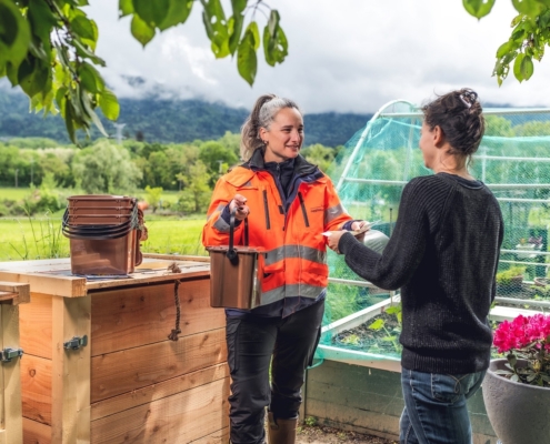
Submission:
[[[51,361],[24,354],[21,360],[23,416],[51,425]]]

